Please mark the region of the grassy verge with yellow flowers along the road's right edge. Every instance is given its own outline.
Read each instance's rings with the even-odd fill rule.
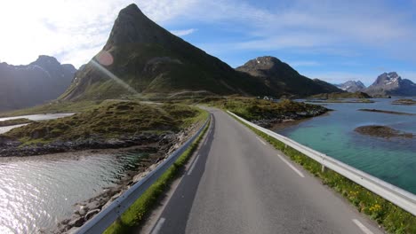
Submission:
[[[234,118],[234,116],[230,116]],[[236,121],[239,120],[236,119]],[[396,205],[388,200],[381,198],[379,195],[372,191],[368,191],[363,186],[350,181],[348,178],[332,170],[322,172],[321,164],[315,160],[308,158],[308,156],[296,151],[290,146],[285,147],[285,144],[272,136],[268,136],[242,121],[240,122],[247,126],[247,128],[252,129],[257,135],[267,140],[268,143],[272,144],[277,150],[284,152],[291,160],[300,164],[311,174],[320,178],[324,184],[328,185],[333,190],[340,192],[340,194],[352,203],[359,212],[369,215],[374,221],[384,227],[388,233],[416,233],[416,217],[414,215],[404,211],[404,209],[400,207],[396,207]]]

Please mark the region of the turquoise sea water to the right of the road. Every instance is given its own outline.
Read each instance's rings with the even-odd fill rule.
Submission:
[[[357,111],[369,108],[416,113],[416,105],[391,105],[394,99],[374,100],[372,104],[328,104],[333,112],[277,132],[416,194],[416,138],[386,139],[354,131],[378,124],[416,135],[416,116]]]

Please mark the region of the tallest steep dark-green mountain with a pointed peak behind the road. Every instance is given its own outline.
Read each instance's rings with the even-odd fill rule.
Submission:
[[[258,79],[236,72],[220,59],[172,35],[131,4],[119,13],[103,51],[76,73],[61,98],[104,99],[184,90],[271,94]]]

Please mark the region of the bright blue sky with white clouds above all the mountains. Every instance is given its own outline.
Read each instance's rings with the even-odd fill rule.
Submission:
[[[396,71],[416,82],[416,0],[38,0],[0,4],[0,60],[39,54],[80,66],[100,51],[117,12],[135,3],[161,26],[227,62],[275,56],[338,83]]]

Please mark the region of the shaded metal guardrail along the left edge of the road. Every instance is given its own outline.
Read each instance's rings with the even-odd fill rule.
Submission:
[[[84,233],[102,233],[104,230],[115,222],[121,214],[127,210],[128,207],[132,206],[132,204],[140,198],[140,196],[148,190],[148,188],[156,182],[156,180],[163,175],[164,172],[170,168],[173,163],[180,157],[180,155],[185,152],[188,147],[194,143],[196,137],[198,137],[204,128],[207,126],[209,121],[211,120],[211,114],[208,119],[205,121],[204,125],[198,129],[196,134],[192,136],[188,141],[180,146],[175,152],[164,160],[161,164],[159,164],[153,171],[151,171],[148,175],[142,178],[138,183],[132,185],[130,189],[124,191],[124,193],[113,201],[107,208],[100,211],[99,214],[92,217],[91,220],[85,222],[83,226],[76,230],[76,233],[84,234]]]

